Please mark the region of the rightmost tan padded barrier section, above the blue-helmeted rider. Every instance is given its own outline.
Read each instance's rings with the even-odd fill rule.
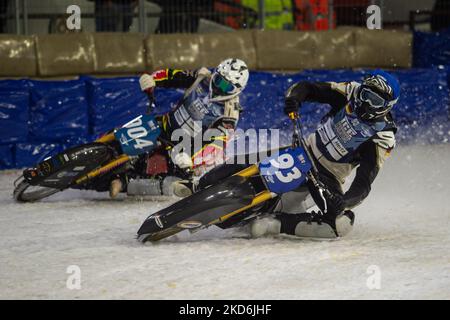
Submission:
[[[397,30],[254,31],[258,69],[410,68],[413,37]]]

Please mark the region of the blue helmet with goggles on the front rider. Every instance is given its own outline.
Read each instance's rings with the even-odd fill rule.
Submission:
[[[397,103],[399,96],[398,79],[383,70],[375,70],[364,77],[362,84],[355,90],[355,113],[364,120],[381,119]]]

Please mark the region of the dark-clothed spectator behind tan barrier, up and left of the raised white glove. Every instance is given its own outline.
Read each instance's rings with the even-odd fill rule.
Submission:
[[[88,1],[95,1],[95,29],[98,32],[130,30],[137,0]]]

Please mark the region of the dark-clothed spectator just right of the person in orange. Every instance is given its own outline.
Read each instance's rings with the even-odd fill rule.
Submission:
[[[370,4],[370,0],[334,0],[336,25],[366,26],[366,11]]]

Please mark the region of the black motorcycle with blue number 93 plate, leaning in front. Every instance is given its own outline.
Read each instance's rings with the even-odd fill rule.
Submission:
[[[264,209],[272,206],[273,200],[305,186],[307,180],[317,188],[326,206],[325,196],[330,192],[318,179],[299,116],[292,113],[289,117],[293,123],[291,146],[151,214],[137,232],[138,241],[159,241],[183,230],[194,233],[212,225],[228,228],[248,223],[268,212]],[[308,192],[303,194],[306,198]]]

